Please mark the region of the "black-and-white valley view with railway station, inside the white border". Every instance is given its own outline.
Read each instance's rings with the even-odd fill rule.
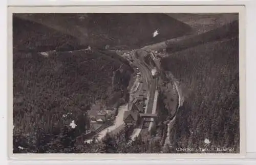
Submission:
[[[13,13],[12,152],[239,154],[239,23]]]

